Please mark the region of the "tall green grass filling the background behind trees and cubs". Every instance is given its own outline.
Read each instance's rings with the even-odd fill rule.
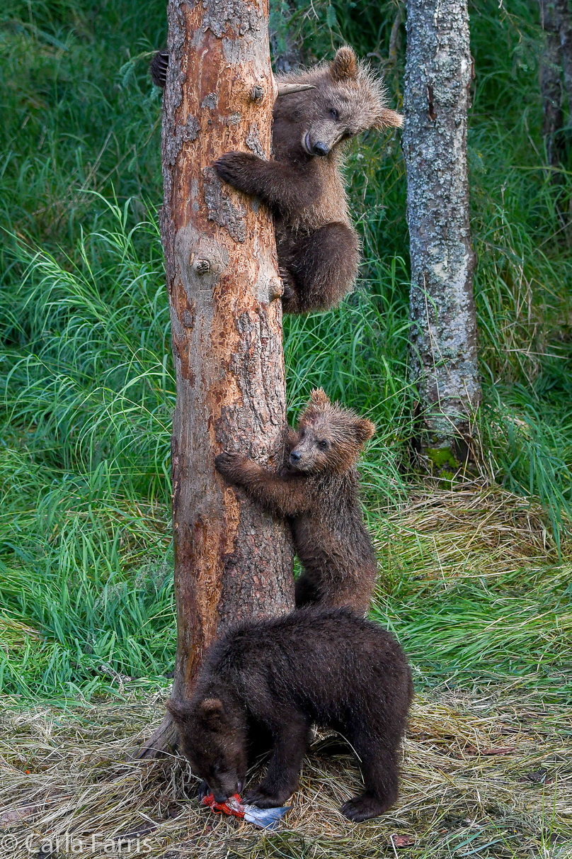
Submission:
[[[374,65],[387,54],[393,4],[292,8],[288,26],[310,59],[345,40]],[[569,588],[554,564],[559,550],[568,557],[572,512],[572,164],[557,181],[544,168],[536,15],[525,0],[509,12],[473,4],[468,144],[479,467],[539,502],[552,554],[494,582],[438,582],[415,543],[407,569],[384,566],[377,613],[420,684],[521,683],[563,702]],[[127,0],[8,0],[0,25],[0,686],[60,703],[155,689],[174,651],[174,383],[155,226],[160,93],[146,71],[165,40],[164,3],[141,15]],[[401,25],[387,69],[398,107],[404,36]],[[355,143],[347,177],[364,243],[359,288],[339,310],[286,320],[288,399],[293,420],[322,385],[375,421],[362,465],[375,530],[420,479],[398,135]]]

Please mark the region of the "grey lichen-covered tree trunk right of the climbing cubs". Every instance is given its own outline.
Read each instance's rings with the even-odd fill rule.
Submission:
[[[467,178],[472,58],[466,0],[407,0],[403,149],[411,242],[412,377],[424,465],[473,451],[481,399]]]

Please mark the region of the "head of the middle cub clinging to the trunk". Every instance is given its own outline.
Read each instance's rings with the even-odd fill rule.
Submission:
[[[376,431],[371,421],[330,403],[322,388],[312,391],[298,423],[298,443],[289,464],[298,472],[341,474],[358,459],[364,442]]]

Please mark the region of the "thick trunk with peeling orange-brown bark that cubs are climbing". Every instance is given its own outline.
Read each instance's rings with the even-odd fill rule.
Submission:
[[[292,541],[215,472],[240,450],[278,466],[286,442],[282,291],[268,211],[220,182],[230,150],[270,154],[268,2],[169,0],[160,217],[177,374],[172,517],[178,649],[173,698],[192,690],[217,629],[293,607]],[[171,716],[143,746],[176,742]]]

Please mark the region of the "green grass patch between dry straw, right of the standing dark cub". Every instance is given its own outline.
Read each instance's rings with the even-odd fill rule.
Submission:
[[[421,687],[506,684],[572,704],[570,568],[400,582],[374,617],[400,637]]]

